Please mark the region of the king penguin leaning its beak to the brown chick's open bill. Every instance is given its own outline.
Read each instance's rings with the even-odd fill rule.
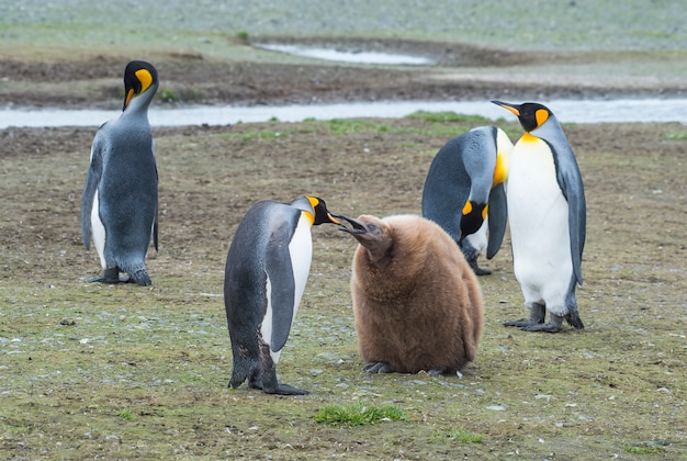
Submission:
[[[295,318],[311,269],[311,228],[339,224],[324,200],[252,205],[236,229],[224,272],[224,305],[234,363],[229,386],[246,378],[268,394],[304,395],[280,384],[277,363]]]

